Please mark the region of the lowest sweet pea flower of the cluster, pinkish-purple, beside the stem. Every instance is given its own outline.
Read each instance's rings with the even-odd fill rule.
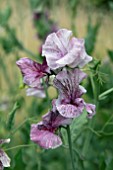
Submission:
[[[58,111],[50,111],[43,116],[42,122],[31,126],[30,138],[44,149],[54,149],[62,145],[61,137],[56,133],[60,126],[68,125],[71,119],[64,118]]]

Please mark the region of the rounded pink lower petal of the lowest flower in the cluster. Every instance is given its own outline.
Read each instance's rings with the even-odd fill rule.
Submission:
[[[38,124],[31,126],[30,138],[44,149],[54,149],[62,145],[61,138],[47,130],[39,130]]]

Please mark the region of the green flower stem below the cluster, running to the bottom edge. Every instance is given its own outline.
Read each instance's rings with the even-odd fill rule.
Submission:
[[[70,150],[72,168],[73,168],[73,170],[75,170],[74,158],[73,158],[73,149],[72,149],[72,141],[71,141],[71,132],[70,132],[69,125],[67,125],[67,136],[68,136],[68,143],[69,143],[69,150]]]

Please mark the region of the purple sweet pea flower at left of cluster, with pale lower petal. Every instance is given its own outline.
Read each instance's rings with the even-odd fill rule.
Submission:
[[[29,58],[21,58],[16,62],[23,75],[24,84],[29,88],[26,90],[27,96],[45,97],[44,88],[42,86],[41,78],[50,73],[46,60],[39,64]]]

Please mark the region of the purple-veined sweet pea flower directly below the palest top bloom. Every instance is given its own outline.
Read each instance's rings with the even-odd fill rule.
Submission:
[[[84,108],[88,112],[89,118],[95,114],[95,105],[87,104],[81,98],[86,90],[80,83],[86,76],[79,69],[63,70],[56,75],[54,86],[60,93],[56,100],[56,108],[65,118],[80,116]]]

